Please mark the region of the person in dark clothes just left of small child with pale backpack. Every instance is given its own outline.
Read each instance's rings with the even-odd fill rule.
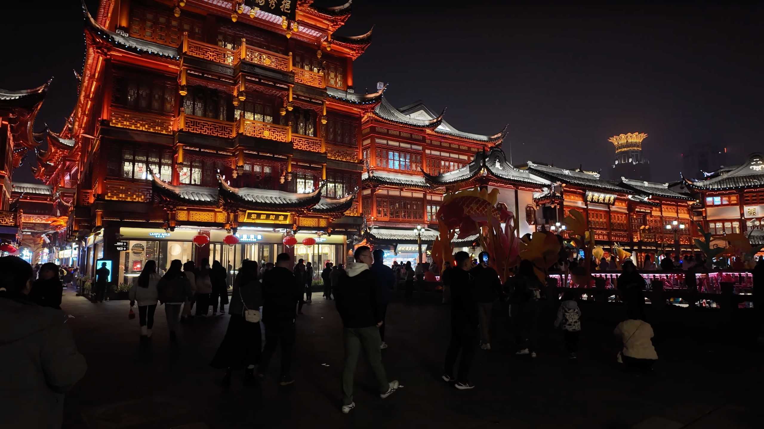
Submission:
[[[515,354],[530,354],[531,357],[536,357],[542,284],[536,277],[531,261],[520,261],[510,286],[510,316],[515,325],[515,339],[520,348]]]

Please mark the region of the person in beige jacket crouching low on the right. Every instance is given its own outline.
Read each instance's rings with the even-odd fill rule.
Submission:
[[[620,322],[613,331],[623,343],[623,350],[618,352],[618,362],[630,369],[650,369],[658,360],[656,348],[652,347],[652,326],[643,317],[632,317]]]

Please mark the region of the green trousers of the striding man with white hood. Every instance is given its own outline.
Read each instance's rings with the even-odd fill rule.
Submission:
[[[358,364],[358,355],[361,348],[366,353],[377,383],[380,385],[380,393],[390,389],[387,382],[387,374],[382,365],[382,352],[380,350],[380,330],[376,326],[370,327],[345,327],[342,330],[345,340],[345,369],[342,369],[342,405],[351,405],[353,402],[353,376],[355,366]]]

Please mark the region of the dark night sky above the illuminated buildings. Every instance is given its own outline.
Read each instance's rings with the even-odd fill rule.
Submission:
[[[50,2],[44,14],[35,2],[4,5],[16,18],[0,27],[9,42],[0,87],[55,76],[37,128],[60,129],[76,97],[78,3]],[[607,171],[607,137],[639,131],[649,134],[653,179],[667,181],[678,179],[681,153],[698,145],[727,147],[728,164],[762,150],[762,4],[503,3],[355,0],[338,33],[375,25],[354,65],[356,91],[388,82],[393,105],[447,106],[462,131],[494,134],[509,124],[504,150],[511,145],[514,163]],[[88,4],[95,11],[97,2]],[[28,166],[14,179],[31,180]]]

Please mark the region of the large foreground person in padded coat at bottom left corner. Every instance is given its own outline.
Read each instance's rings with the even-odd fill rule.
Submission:
[[[0,258],[0,427],[61,427],[64,394],[85,375],[66,314],[28,298],[32,266]]]

